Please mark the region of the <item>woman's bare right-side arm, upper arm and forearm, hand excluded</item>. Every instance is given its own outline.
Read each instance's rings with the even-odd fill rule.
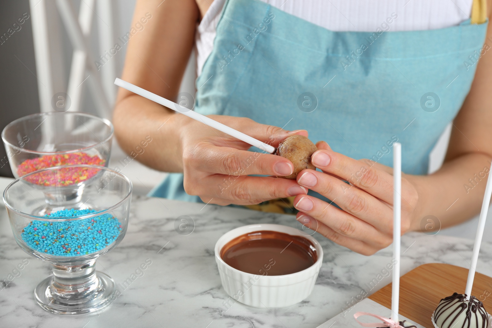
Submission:
[[[489,9],[492,7],[489,0]],[[490,12],[489,12],[490,14]],[[487,39],[492,37],[489,24]],[[463,222],[479,213],[492,159],[490,142],[492,112],[492,57],[483,56],[470,91],[453,120],[449,149],[442,168],[426,177],[410,177],[419,193],[413,230],[420,221],[434,215],[443,228]]]

